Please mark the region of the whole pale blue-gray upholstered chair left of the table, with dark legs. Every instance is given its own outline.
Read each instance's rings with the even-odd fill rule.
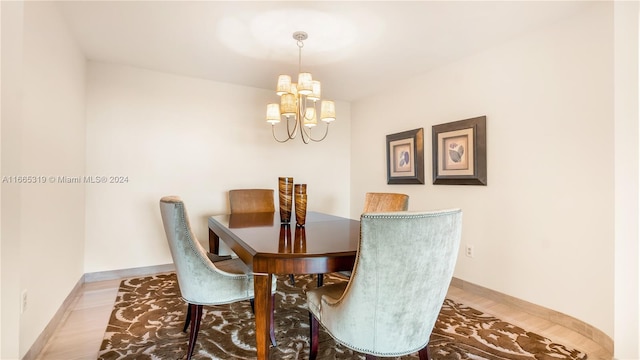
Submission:
[[[206,250],[191,231],[184,202],[179,197],[165,196],[160,199],[160,213],[176,266],[180,293],[189,306],[188,313],[193,316],[187,350],[187,359],[190,359],[200,329],[203,305],[253,299],[253,275],[240,259],[215,263],[209,261]],[[273,280],[272,289],[275,293],[276,278]],[[185,330],[188,323],[189,320],[186,321]],[[271,324],[271,342],[275,343],[273,321]]]

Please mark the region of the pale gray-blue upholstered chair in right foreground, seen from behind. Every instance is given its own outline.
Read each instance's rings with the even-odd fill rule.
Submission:
[[[459,209],[362,214],[349,281],[307,292],[310,359],[318,352],[319,324],[367,359],[414,352],[429,359],[427,345],[453,276],[461,228]]]

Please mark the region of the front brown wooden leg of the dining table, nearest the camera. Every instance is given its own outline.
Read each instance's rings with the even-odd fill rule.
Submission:
[[[253,290],[256,307],[256,347],[258,360],[269,358],[269,338],[271,325],[271,274],[254,274]]]

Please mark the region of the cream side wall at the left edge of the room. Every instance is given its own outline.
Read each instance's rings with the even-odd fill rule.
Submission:
[[[11,54],[21,60],[14,68],[20,75],[12,79],[21,93],[10,98],[18,101],[11,103],[17,111],[9,118],[3,112],[2,176],[83,174],[84,57],[54,4],[25,2],[23,13],[14,15],[22,27],[12,28],[19,44],[9,50],[21,51]],[[2,302],[3,314],[19,314],[19,294],[28,294],[19,330],[10,322],[2,332],[2,358],[11,359],[27,352],[84,272],[84,186],[5,182],[2,191],[11,194],[2,198],[3,225],[9,227],[5,233],[3,226],[2,256],[12,259],[2,262],[3,290],[4,274],[18,276],[9,283],[15,287],[8,289],[10,301]]]

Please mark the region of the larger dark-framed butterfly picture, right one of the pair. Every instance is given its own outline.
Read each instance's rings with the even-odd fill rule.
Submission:
[[[487,185],[487,117],[432,127],[433,183]]]

